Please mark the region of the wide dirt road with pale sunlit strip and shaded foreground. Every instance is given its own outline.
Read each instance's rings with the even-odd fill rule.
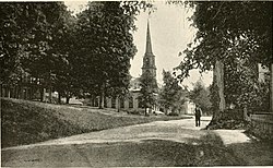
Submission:
[[[201,128],[210,118],[202,120]],[[156,121],[3,148],[2,166],[273,165],[269,144],[256,142],[238,130],[201,128],[194,127],[193,119]]]

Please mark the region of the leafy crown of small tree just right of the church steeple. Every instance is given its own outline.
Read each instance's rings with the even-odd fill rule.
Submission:
[[[163,71],[164,86],[159,91],[159,107],[171,111],[181,110],[183,103],[187,100],[188,92],[179,86],[169,71]]]

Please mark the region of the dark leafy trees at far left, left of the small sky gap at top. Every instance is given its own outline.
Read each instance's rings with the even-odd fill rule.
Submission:
[[[51,74],[56,73],[56,63],[60,62],[57,60],[64,60],[58,45],[60,36],[64,36],[66,13],[63,2],[1,4],[3,83],[20,87],[22,79],[27,74],[43,79],[43,87],[51,88]]]

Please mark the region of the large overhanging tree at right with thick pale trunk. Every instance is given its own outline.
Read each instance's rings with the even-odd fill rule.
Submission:
[[[224,89],[225,98],[228,100],[226,95],[230,95],[229,91],[238,88],[238,85],[227,77],[235,76],[235,71],[241,65],[250,68],[257,63],[266,67],[272,64],[272,3],[244,1],[190,4],[195,8],[192,21],[198,33],[195,45],[189,44],[185,50],[185,61],[178,67],[181,70],[179,77],[187,77],[189,70],[193,68],[199,68],[201,71],[214,68],[217,70],[215,71],[217,80],[214,80],[212,92],[214,100],[223,99],[224,95],[221,93]],[[242,77],[242,73],[236,75]],[[224,84],[221,83],[221,79],[224,79]],[[248,75],[245,81],[253,83],[251,79],[252,75]],[[238,84],[241,93],[237,96],[246,93],[249,87],[244,82]],[[245,101],[244,98],[236,99]],[[215,101],[213,104],[216,105],[214,108],[217,111],[214,116],[216,117],[219,113],[219,104]]]

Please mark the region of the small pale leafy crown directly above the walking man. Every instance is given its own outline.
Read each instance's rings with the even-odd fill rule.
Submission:
[[[198,81],[190,92],[190,99],[199,105],[203,112],[210,112],[212,103],[210,101],[210,89],[204,86],[202,81]]]

